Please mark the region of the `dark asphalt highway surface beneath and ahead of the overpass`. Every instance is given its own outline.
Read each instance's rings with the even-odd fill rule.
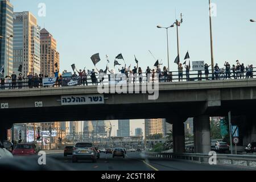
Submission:
[[[48,155],[76,171],[234,171],[243,170],[238,167],[210,166],[208,164],[191,163],[173,159],[145,158],[142,152],[127,152],[126,158],[112,158],[111,154],[101,153],[97,163],[80,160],[72,163],[72,157],[63,154]]]

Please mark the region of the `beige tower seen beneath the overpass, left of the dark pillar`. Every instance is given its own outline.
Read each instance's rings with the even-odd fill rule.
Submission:
[[[163,119],[145,119],[145,136],[163,134]]]

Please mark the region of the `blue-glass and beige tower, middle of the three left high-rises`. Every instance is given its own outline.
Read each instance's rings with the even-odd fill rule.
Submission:
[[[40,74],[40,27],[34,15],[28,11],[14,13],[14,72],[18,74]]]

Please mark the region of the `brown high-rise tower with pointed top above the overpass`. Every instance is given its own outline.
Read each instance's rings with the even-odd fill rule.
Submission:
[[[41,38],[41,73],[43,75],[48,75],[49,77],[54,77],[53,71],[55,71],[57,64],[57,69],[60,69],[60,54],[56,51],[57,42],[53,38],[46,28],[43,28],[40,32]]]

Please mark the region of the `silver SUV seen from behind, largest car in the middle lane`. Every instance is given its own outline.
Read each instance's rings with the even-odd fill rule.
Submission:
[[[93,163],[97,162],[97,151],[92,143],[80,142],[77,143],[73,149],[72,163],[78,162],[78,160],[90,159]]]

